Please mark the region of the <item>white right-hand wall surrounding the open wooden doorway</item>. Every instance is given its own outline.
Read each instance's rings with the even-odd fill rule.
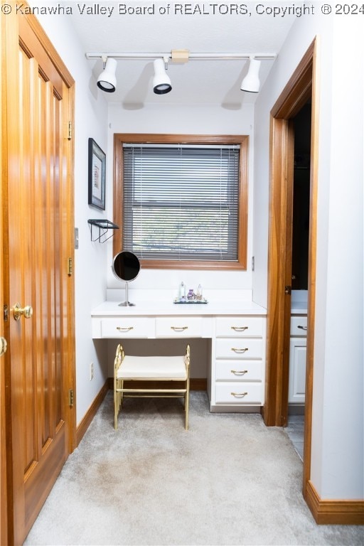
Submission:
[[[255,108],[257,303],[267,304],[269,112],[316,34],[321,40],[311,481],[321,498],[364,496],[363,33],[355,18],[301,18]]]

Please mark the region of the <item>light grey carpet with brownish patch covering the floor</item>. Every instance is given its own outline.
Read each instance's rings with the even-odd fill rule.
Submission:
[[[316,525],[302,462],[259,414],[210,414],[181,400],[129,399],[113,428],[107,394],[26,545],[360,545],[362,526]]]

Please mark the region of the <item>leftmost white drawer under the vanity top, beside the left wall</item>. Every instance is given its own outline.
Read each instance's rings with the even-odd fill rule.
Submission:
[[[154,337],[154,319],[148,317],[120,317],[102,319],[102,338],[149,338]]]

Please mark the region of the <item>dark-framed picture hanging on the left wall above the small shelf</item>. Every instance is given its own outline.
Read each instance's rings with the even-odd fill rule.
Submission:
[[[95,142],[88,139],[88,204],[105,210],[106,155]]]

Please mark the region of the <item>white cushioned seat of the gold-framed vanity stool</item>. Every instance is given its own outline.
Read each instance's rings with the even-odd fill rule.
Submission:
[[[117,379],[186,380],[184,356],[125,356]]]

